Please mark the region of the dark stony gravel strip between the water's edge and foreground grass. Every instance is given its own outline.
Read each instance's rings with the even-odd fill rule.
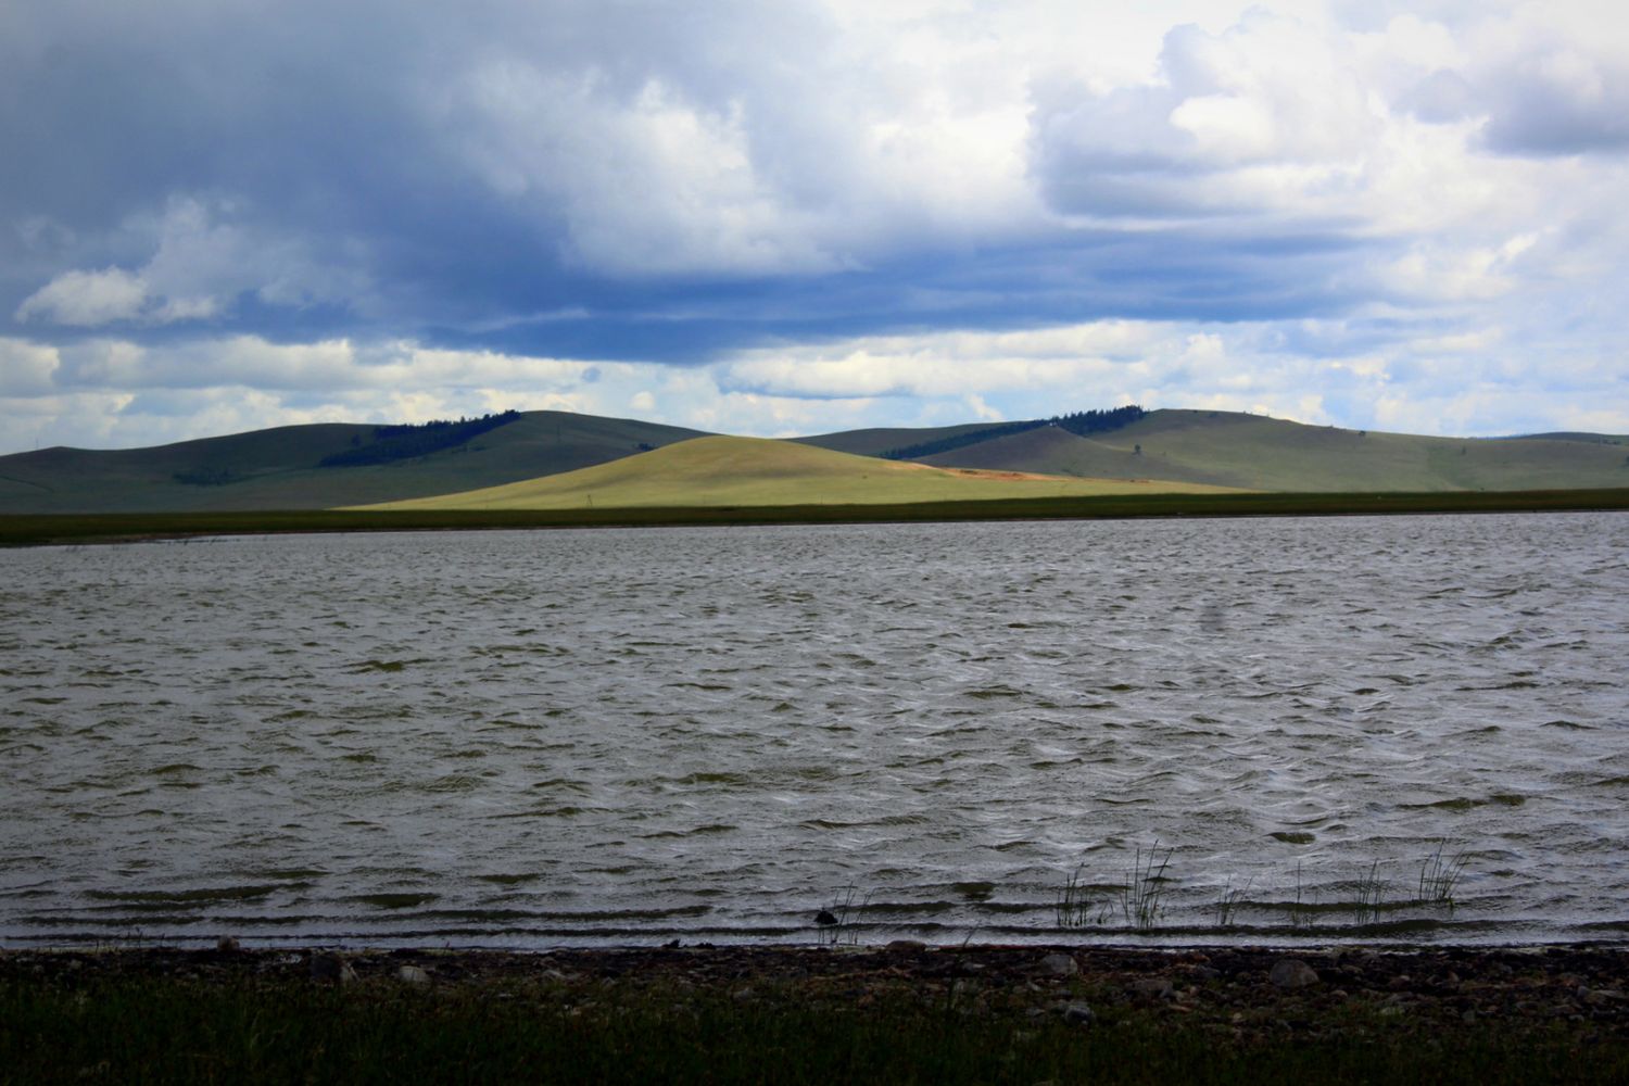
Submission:
[[[863,1009],[919,1000],[976,1018],[1062,1018],[1082,1027],[1170,1021],[1235,1040],[1339,1039],[1375,1029],[1565,1029],[1629,1040],[1629,949],[663,946],[508,951],[5,949],[0,983],[88,988],[181,980],[525,990],[593,1008],[634,995]],[[541,995],[539,995],[541,993]]]

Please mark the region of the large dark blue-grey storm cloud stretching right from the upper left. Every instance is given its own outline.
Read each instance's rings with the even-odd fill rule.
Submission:
[[[969,246],[902,215],[858,243],[787,226],[832,200],[863,202],[836,150],[852,137],[829,109],[854,88],[823,70],[829,24],[793,7],[70,0],[3,18],[16,169],[0,190],[13,226],[0,313],[13,334],[411,334],[694,361],[775,335],[1116,313],[1249,319],[1344,303],[1319,295],[1329,277],[1308,275],[1316,256],[1253,261],[1192,230]],[[1191,65],[1184,34],[1166,49],[1178,72]],[[764,41],[808,63],[772,63]],[[653,85],[704,117],[735,111],[769,189],[757,231],[779,256],[754,256],[756,234],[746,256],[692,256],[673,217],[647,215],[670,179],[639,161],[619,173],[609,151],[590,161],[634,138],[593,125]],[[1036,169],[1060,208],[1204,212],[1183,134],[1145,125],[1148,106],[1139,91],[1062,135],[1043,130]],[[1104,143],[1119,150],[1100,153]],[[619,177],[629,192],[604,192]],[[1297,247],[1298,231],[1264,236]],[[630,267],[652,254],[673,270]],[[551,316],[562,311],[582,316]]]

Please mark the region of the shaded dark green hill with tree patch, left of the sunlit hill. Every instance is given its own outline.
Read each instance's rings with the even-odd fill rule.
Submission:
[[[700,435],[544,410],[520,414],[451,448],[404,456],[412,453],[415,435],[401,430],[324,423],[147,449],[52,448],[0,456],[0,513],[323,510],[492,487]],[[383,459],[321,466],[368,451]]]

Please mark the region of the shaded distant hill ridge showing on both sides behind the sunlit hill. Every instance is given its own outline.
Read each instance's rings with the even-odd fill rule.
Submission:
[[[277,427],[147,449],[50,448],[0,456],[0,515],[376,505],[560,475],[699,436],[709,435],[632,418],[502,412],[399,428]],[[849,430],[784,444],[901,466],[1245,490],[1629,487],[1622,435],[1435,438],[1205,410],[1121,407],[1046,420]]]

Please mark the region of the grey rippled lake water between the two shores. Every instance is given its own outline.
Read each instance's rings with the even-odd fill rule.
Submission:
[[[1618,938],[1626,526],[3,554],[0,939]]]

